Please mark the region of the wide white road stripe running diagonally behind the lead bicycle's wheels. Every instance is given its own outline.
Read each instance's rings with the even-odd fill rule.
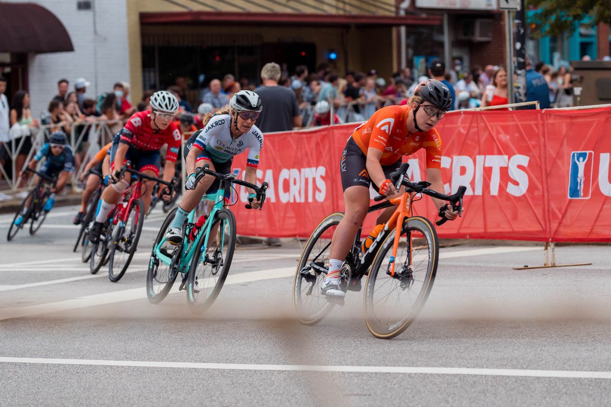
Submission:
[[[497,247],[497,248],[484,248],[484,249],[472,249],[464,251],[453,251],[447,253],[444,258],[452,257],[465,257],[465,256],[478,256],[483,254],[495,254],[495,253],[513,253],[518,251],[529,251],[535,250],[533,247]],[[465,254],[469,253],[469,254]],[[252,281],[260,281],[262,279],[271,278],[282,278],[295,275],[295,267],[284,267],[275,268],[273,270],[260,270],[257,272],[246,272],[231,274],[227,277],[225,284],[241,284],[249,283]],[[178,284],[175,284],[172,288],[172,292],[177,291]],[[26,317],[38,314],[48,314],[49,312],[67,311],[68,309],[84,308],[95,305],[103,305],[116,303],[121,301],[138,300],[146,298],[146,289],[144,287],[122,290],[116,292],[109,292],[104,294],[89,295],[87,297],[75,298],[73,300],[58,301],[56,303],[46,303],[31,305],[26,307],[14,307],[0,309],[0,320]]]

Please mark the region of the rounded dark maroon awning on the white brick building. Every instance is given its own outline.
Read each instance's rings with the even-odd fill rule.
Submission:
[[[45,7],[0,2],[0,52],[74,51],[64,24]]]

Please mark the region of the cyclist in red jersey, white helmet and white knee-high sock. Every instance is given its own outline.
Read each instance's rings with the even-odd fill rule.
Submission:
[[[111,184],[111,187],[104,189],[102,193],[95,222],[89,233],[89,240],[94,244],[100,239],[102,225],[108,214],[130,185],[130,173],[125,173],[123,179],[117,179],[125,160],[130,160],[134,168],[146,175],[159,176],[159,150],[167,144],[163,179],[171,181],[174,178],[174,163],[178,157],[181,139],[180,130],[172,123],[178,110],[178,99],[170,92],[159,90],[151,96],[150,106],[151,110],[134,113],[112,143],[111,178],[118,182]],[[145,185],[146,188],[142,192],[144,213],[148,211],[153,199],[155,182],[146,181]],[[164,199],[169,199],[169,196],[164,196]]]

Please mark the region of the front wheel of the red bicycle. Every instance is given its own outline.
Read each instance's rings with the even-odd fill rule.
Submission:
[[[119,281],[127,268],[130,267],[131,259],[136,253],[138,240],[142,232],[144,224],[144,202],[142,199],[137,199],[130,207],[130,212],[127,216],[125,225],[117,225],[121,228],[119,237],[115,242],[112,242],[110,261],[108,263],[108,278],[116,283]]]

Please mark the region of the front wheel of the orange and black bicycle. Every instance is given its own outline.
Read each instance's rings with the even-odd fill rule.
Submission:
[[[403,222],[397,256],[392,259],[396,232],[382,240],[364,292],[365,323],[373,336],[382,339],[401,334],[414,322],[433,288],[439,259],[437,233],[428,219],[412,217]]]

